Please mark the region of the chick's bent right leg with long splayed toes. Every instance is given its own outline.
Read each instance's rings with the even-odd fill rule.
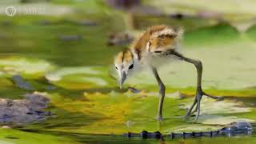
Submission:
[[[185,62],[190,62],[192,64],[194,64],[194,66],[197,69],[197,73],[198,73],[198,78],[197,78],[197,90],[196,90],[196,97],[194,99],[194,103],[192,104],[192,106],[190,106],[190,110],[188,110],[188,112],[186,113],[186,116],[189,116],[191,114],[191,111],[193,110],[195,104],[197,103],[196,106],[196,110],[197,110],[197,116],[195,118],[195,122],[198,120],[198,116],[200,114],[200,102],[202,99],[202,95],[206,95],[210,98],[214,98],[214,99],[220,99],[218,97],[206,94],[205,92],[202,91],[202,62],[199,60],[194,60],[191,58],[186,58],[184,57],[182,54],[178,54],[178,52],[175,51],[171,51],[170,54],[174,54],[175,56],[177,56],[178,58],[180,58],[181,60],[185,61]]]

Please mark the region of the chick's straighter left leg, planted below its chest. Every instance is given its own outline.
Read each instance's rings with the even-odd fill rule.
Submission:
[[[166,94],[166,86],[162,83],[162,80],[159,77],[158,71],[156,70],[156,68],[152,67],[151,69],[153,71],[154,77],[156,78],[156,80],[158,82],[160,98],[159,98],[159,104],[158,104],[157,119],[158,119],[158,121],[161,121],[162,120],[162,105],[163,105],[163,100],[164,100],[165,94]]]

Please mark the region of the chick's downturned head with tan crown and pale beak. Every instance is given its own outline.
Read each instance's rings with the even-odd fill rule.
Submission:
[[[119,85],[122,88],[123,83],[126,81],[136,67],[134,62],[134,55],[130,50],[123,50],[114,58],[115,70],[118,71]]]

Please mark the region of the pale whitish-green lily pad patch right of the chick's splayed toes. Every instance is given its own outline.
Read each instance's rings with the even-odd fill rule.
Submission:
[[[192,101],[191,101],[192,102]],[[188,109],[191,102],[186,103]],[[247,122],[255,122],[254,119],[239,117],[239,113],[249,113],[253,109],[242,105],[242,102],[234,101],[215,101],[210,98],[202,98],[201,115],[198,123],[206,125],[227,125],[238,120],[246,120]],[[190,122],[194,122],[194,118],[190,118]]]

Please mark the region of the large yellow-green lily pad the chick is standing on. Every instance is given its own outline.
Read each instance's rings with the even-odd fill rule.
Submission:
[[[109,94],[85,93],[79,99],[69,98],[66,94],[49,94],[56,118],[49,118],[43,124],[35,126],[37,129],[39,126],[40,130],[79,134],[123,134],[127,131],[138,133],[142,130],[159,130],[162,134],[169,134],[181,130],[218,130],[226,124],[241,119],[254,122],[250,118],[238,115],[250,113],[250,110],[254,110],[252,108],[238,110],[238,102],[233,104],[232,101],[218,102],[203,98],[202,115],[200,115],[198,123],[190,123],[190,121],[185,121],[183,116],[186,114],[184,108],[190,106],[193,98],[168,97],[165,98],[163,106],[164,120],[158,122],[155,119],[158,97],[145,94],[122,94],[112,90]],[[214,107],[214,110],[208,113],[207,110],[210,109],[210,106],[218,107]],[[223,110],[221,110],[221,106],[223,106]],[[231,110],[234,113],[230,113]],[[218,111],[218,115],[216,111]],[[254,116],[252,117],[254,118]],[[194,117],[191,117],[191,120],[194,121]],[[74,124],[66,126],[66,122],[74,121],[76,121]],[[29,127],[33,129],[33,126]]]

